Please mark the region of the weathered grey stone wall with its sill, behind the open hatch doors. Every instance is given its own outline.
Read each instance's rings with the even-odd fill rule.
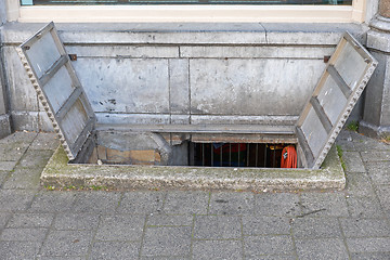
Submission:
[[[52,130],[15,48],[43,25],[2,29],[16,130]],[[354,24],[57,24],[105,122],[295,123],[344,30]],[[359,119],[361,103],[352,117]]]

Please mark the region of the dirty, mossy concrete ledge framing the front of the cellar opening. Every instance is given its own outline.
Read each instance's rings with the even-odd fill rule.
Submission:
[[[60,146],[41,174],[52,188],[185,188],[231,191],[343,190],[346,177],[333,146],[320,170],[70,165]]]

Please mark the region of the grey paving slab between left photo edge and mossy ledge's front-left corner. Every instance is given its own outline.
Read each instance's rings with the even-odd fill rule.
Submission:
[[[3,188],[38,188],[42,168],[16,167],[3,184]]]

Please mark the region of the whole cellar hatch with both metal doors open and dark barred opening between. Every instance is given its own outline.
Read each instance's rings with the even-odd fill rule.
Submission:
[[[346,32],[294,125],[108,125],[96,119],[53,23],[18,52],[75,164],[277,168],[290,146],[298,168],[318,169],[377,65]]]

